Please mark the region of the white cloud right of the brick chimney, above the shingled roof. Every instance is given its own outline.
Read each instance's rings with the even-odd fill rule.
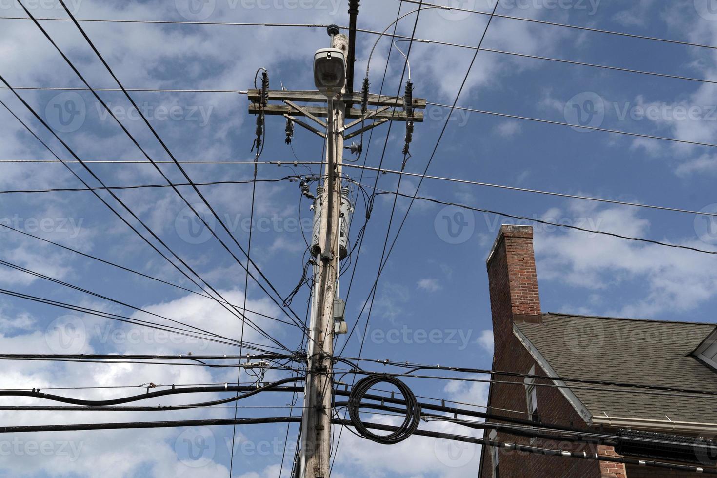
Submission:
[[[694,237],[655,237],[650,233],[650,222],[634,208],[571,203],[564,216],[590,218],[597,226],[588,229],[700,248],[708,246]],[[543,281],[588,291],[640,285],[632,299],[610,302],[611,308],[600,310],[601,315],[658,318],[670,312],[693,310],[716,297],[717,271],[701,265],[703,254],[579,231],[540,228],[536,228],[535,244],[538,277]]]

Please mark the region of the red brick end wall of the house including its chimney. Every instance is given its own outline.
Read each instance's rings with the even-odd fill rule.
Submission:
[[[493,336],[495,355],[493,370],[528,373],[534,366],[536,374],[547,375],[523,344],[513,335],[513,321],[538,321],[540,297],[533,254],[533,229],[523,226],[503,226],[502,237],[498,239],[488,261],[490,282],[490,307],[493,314]],[[520,378],[494,375],[493,380],[519,382],[518,385],[492,383],[488,397],[489,411],[496,415],[528,419],[526,388]],[[536,381],[536,384],[551,383]],[[545,425],[584,426],[584,421],[563,396],[559,388],[538,386],[538,413]],[[503,410],[500,410],[503,408]],[[506,411],[508,410],[508,411]],[[516,412],[517,411],[517,412]],[[486,434],[488,436],[488,434]],[[587,451],[595,453],[595,446],[569,442],[547,441],[512,435],[506,431],[497,434],[498,441],[531,444],[566,451]],[[599,453],[606,454],[607,448]],[[625,469],[618,464],[567,457],[549,457],[526,454],[520,451],[500,450],[500,475],[511,478],[584,477],[584,478],[626,478]],[[481,477],[492,478],[490,450],[483,452]]]

